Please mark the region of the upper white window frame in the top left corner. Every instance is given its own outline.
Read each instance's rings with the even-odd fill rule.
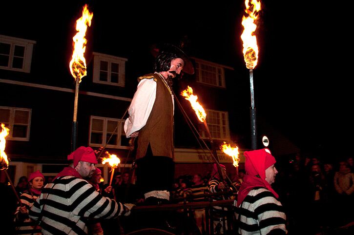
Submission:
[[[18,72],[24,72],[24,73],[31,72],[33,46],[34,46],[34,44],[36,44],[36,41],[0,35],[0,43],[10,45],[10,52],[8,55],[9,56],[8,64],[7,64],[7,66],[0,65],[0,69],[12,70],[12,71],[18,71]],[[13,68],[12,67],[13,63],[14,63],[14,58],[17,58],[14,55],[16,46],[24,47],[22,68]]]

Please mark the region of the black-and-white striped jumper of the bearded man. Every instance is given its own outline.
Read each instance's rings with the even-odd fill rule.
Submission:
[[[123,213],[122,203],[102,196],[86,180],[62,176],[42,189],[29,216],[41,220],[43,235],[84,235],[87,218],[112,218]]]

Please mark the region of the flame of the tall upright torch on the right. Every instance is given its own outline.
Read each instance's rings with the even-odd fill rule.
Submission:
[[[243,41],[243,55],[248,69],[253,69],[257,65],[258,59],[258,46],[257,38],[253,35],[257,28],[254,23],[258,18],[258,12],[261,10],[261,2],[258,0],[245,0],[246,10],[248,17],[242,17],[242,25],[244,31],[241,35]]]

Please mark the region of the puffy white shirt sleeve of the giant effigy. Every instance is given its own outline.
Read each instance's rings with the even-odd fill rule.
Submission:
[[[142,79],[137,87],[137,91],[131,100],[128,114],[125,120],[124,131],[128,138],[136,131],[139,131],[146,124],[147,118],[150,116],[152,106],[156,98],[156,82],[153,78]]]

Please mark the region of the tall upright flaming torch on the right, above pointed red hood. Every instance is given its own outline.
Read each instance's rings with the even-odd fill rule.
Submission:
[[[245,0],[247,17],[242,17],[242,25],[244,31],[241,35],[243,41],[243,55],[246,62],[246,67],[250,69],[250,91],[251,91],[251,138],[252,149],[257,148],[256,140],[256,109],[254,107],[254,93],[253,93],[253,69],[257,65],[258,46],[257,38],[254,31],[257,25],[254,23],[258,18],[258,13],[261,10],[261,2],[258,0]]]

